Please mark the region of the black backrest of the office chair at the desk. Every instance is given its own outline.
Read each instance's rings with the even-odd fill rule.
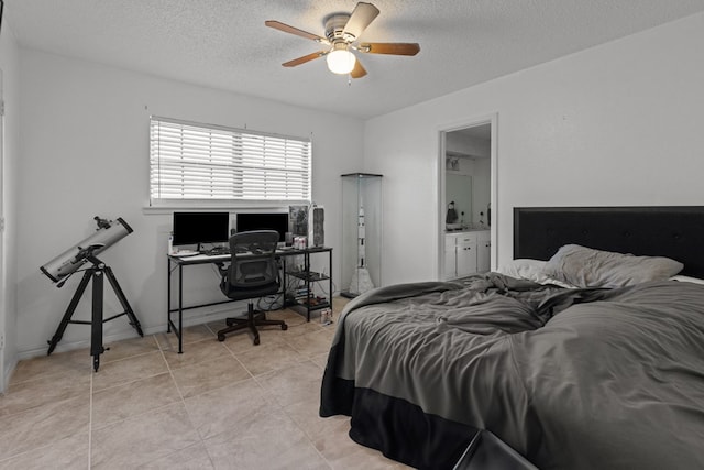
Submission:
[[[275,230],[246,231],[230,237],[231,262],[223,291],[226,287],[228,291],[278,287],[277,243]]]

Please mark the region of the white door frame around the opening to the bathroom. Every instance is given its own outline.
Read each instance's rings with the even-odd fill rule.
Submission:
[[[437,277],[441,280],[444,273],[444,208],[447,207],[444,185],[446,185],[446,135],[448,132],[458,131],[460,129],[474,128],[476,125],[491,124],[492,142],[491,142],[491,204],[492,204],[492,226],[491,226],[491,270],[496,270],[498,260],[498,165],[497,165],[497,125],[498,113],[494,112],[477,118],[471,118],[463,121],[443,124],[438,129],[438,247],[437,247]]]

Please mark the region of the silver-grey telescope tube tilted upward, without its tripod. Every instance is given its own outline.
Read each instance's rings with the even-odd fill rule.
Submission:
[[[50,280],[58,283],[57,287],[62,287],[67,276],[78,271],[91,256],[103,252],[133,231],[120,217],[112,221],[96,216],[94,220],[98,225],[95,233],[40,267]]]

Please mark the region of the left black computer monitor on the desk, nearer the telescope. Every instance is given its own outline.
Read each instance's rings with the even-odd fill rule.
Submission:
[[[221,243],[229,239],[229,212],[174,212],[174,245]]]

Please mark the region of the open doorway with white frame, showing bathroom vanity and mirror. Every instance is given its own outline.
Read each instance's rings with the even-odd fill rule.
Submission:
[[[481,244],[480,259],[488,258],[485,270],[497,263],[497,114],[441,128],[438,152],[438,278],[452,277],[453,247],[448,240],[468,231],[488,231],[488,244]],[[469,196],[468,196],[469,194]],[[457,199],[457,200],[455,200]],[[454,203],[454,204],[451,204]],[[450,220],[453,219],[453,220]],[[484,254],[486,253],[486,254]],[[457,262],[457,261],[455,261]]]

